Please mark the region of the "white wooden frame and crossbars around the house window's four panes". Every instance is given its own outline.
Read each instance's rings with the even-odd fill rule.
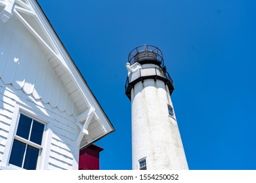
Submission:
[[[23,137],[20,137],[20,136],[16,135],[17,130],[18,130],[18,125],[19,125],[19,122],[20,122],[21,114],[32,119],[32,124],[30,125],[29,137],[32,134],[32,127],[33,127],[33,122],[34,121],[39,122],[40,124],[44,125],[41,145],[37,144],[35,142],[30,141],[30,138],[24,139]],[[12,138],[12,144],[11,144],[11,148],[10,148],[10,151],[9,151],[9,158],[8,158],[8,161],[7,161],[7,166],[12,167],[14,169],[24,169],[24,163],[25,163],[25,158],[26,158],[26,152],[28,151],[28,146],[32,146],[33,148],[38,149],[37,165],[35,167],[35,170],[37,170],[39,168],[39,166],[40,166],[39,164],[40,164],[40,161],[41,161],[41,154],[42,154],[42,151],[43,151],[43,143],[44,143],[44,136],[45,136],[46,125],[47,124],[45,122],[42,122],[41,120],[38,120],[37,117],[28,114],[28,112],[24,112],[22,110],[20,110],[18,112],[18,116],[16,118],[16,126],[15,126],[15,130],[14,130],[14,135],[13,135],[13,138]],[[13,147],[14,140],[19,141],[19,142],[23,142],[24,144],[26,144],[25,152],[24,152],[23,159],[22,159],[22,167],[19,167],[17,165],[9,163],[10,159],[11,159],[11,153],[12,153],[12,147]]]

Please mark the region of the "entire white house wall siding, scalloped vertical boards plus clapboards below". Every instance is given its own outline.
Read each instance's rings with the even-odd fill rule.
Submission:
[[[43,157],[49,161],[46,169],[74,169],[79,154],[73,116],[74,103],[79,102],[76,93],[72,99],[71,90],[60,80],[64,73],[54,70],[60,66],[47,59],[45,50],[14,16],[5,24],[0,21],[0,29],[0,164],[8,156],[5,148],[17,103],[49,119],[52,133],[45,143],[50,147]]]

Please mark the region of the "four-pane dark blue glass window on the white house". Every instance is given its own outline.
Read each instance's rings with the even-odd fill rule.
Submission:
[[[42,149],[44,128],[44,124],[20,114],[9,164],[28,170],[36,169],[39,153]]]

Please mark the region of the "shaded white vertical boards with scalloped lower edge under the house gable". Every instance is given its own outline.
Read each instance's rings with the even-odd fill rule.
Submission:
[[[43,103],[60,108],[61,112],[66,111],[68,115],[77,110],[74,103],[79,107],[85,104],[81,103],[81,94],[73,89],[74,85],[65,89],[60,80],[60,75],[63,75],[60,64],[54,59],[48,61],[47,53],[30,31],[15,17],[5,24],[0,37],[1,80],[5,84],[12,84],[17,90],[22,89],[26,94],[33,95],[35,99],[41,99]],[[13,31],[13,27],[19,31]]]

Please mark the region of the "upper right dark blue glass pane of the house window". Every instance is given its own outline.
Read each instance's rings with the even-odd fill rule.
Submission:
[[[45,127],[45,125],[34,120],[33,126],[32,126],[32,132],[31,132],[31,136],[30,136],[30,141],[41,145],[44,127]]]

